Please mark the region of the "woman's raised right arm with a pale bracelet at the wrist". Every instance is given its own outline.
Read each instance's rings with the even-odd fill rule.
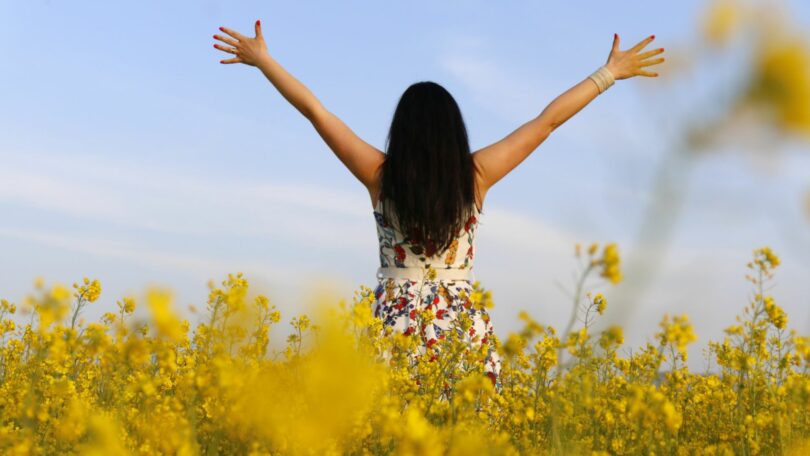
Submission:
[[[632,48],[620,51],[619,36],[614,34],[613,48],[605,67],[616,80],[636,75],[658,76],[658,73],[644,71],[641,68],[663,62],[663,58],[643,59],[664,52],[664,48],[638,54],[638,51],[654,38],[655,35],[651,35]],[[555,98],[540,115],[521,125],[509,136],[474,152],[473,159],[480,170],[479,181],[483,186],[482,190],[485,192],[517,167],[548,138],[552,131],[579,112],[597,95],[599,95],[599,89],[596,83],[587,77]]]

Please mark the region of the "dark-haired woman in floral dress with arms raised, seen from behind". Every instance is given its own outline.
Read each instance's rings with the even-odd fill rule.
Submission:
[[[500,360],[491,341],[489,315],[470,302],[473,239],[484,197],[615,80],[658,76],[642,68],[663,62],[649,57],[664,49],[640,53],[655,35],[620,51],[614,34],[605,65],[555,98],[536,118],[473,153],[453,97],[436,83],[415,83],[399,100],[383,153],[355,135],[268,54],[260,21],[252,38],[226,27],[220,30],[229,36],[214,39],[228,46],[214,47],[234,55],[220,63],[259,68],[368,189],[380,245],[375,316],[404,334],[419,332],[424,353],[445,337],[460,312],[466,313],[473,324],[463,336],[489,345],[485,371],[500,388]],[[433,311],[432,322],[418,318],[426,308]]]

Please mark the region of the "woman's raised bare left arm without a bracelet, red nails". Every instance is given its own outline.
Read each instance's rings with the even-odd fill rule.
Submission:
[[[328,111],[310,90],[288,73],[267,52],[261,23],[256,21],[256,37],[250,38],[226,27],[220,30],[233,38],[214,35],[232,47],[214,44],[214,47],[235,57],[220,63],[244,63],[259,68],[290,104],[315,127],[338,159],[362,182],[366,188],[376,185],[376,173],[385,154],[363,141],[343,121]]]

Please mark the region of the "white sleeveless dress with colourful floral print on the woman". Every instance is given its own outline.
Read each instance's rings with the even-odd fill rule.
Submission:
[[[425,251],[421,245],[412,244],[408,237],[395,228],[395,224],[385,218],[382,201],[378,201],[374,209],[374,218],[377,224],[380,266],[422,269],[430,265],[436,270],[452,268],[472,270],[473,241],[481,215],[477,204],[473,206],[475,207],[473,215],[464,223],[450,247],[441,255],[437,255],[435,252]],[[492,323],[486,309],[476,309],[471,305],[469,296],[472,294],[473,282],[474,280],[469,279],[438,277],[430,280],[421,276],[378,277],[372,312],[375,317],[382,319],[386,326],[393,327],[394,331],[406,335],[419,332],[421,336],[419,351],[423,354],[426,348],[443,339],[446,331],[453,329],[450,325],[457,315],[461,312],[466,313],[473,324],[464,335],[464,339],[468,343],[489,346],[484,371],[496,389],[500,390],[501,361],[492,342]],[[461,296],[462,291],[466,298]],[[432,323],[420,325],[415,316],[417,311],[426,307],[433,309],[435,318]]]

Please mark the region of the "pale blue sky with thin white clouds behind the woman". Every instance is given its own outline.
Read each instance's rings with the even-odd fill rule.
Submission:
[[[807,3],[785,4],[807,29]],[[87,275],[104,286],[93,318],[148,284],[201,306],[208,279],[244,271],[288,321],[316,282],[347,299],[373,285],[367,192],[258,69],[218,63],[220,25],[252,34],[261,19],[275,59],[380,149],[413,82],[455,96],[478,149],[603,64],[614,32],[622,49],[654,33],[662,77],[617,81],[484,203],[475,270],[493,291],[496,333],[516,329],[520,309],[560,328],[570,304],[555,281],[571,288],[574,243],[630,247],[684,113],[711,109],[733,80],[733,53],[676,67],[700,41],[703,5],[0,1],[0,296],[21,301],[37,276]],[[628,344],[664,312],[689,313],[702,366],[700,348],[747,302],[745,262],[762,245],[783,259],[772,293],[807,333],[808,165],[806,144],[701,160],[644,306],[623,315],[597,287]]]

